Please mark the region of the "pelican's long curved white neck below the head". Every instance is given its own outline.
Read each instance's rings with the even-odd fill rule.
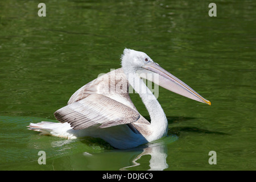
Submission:
[[[156,140],[167,135],[168,122],[166,114],[164,114],[164,111],[154,94],[150,89],[147,88],[142,78],[137,76],[136,73],[129,74],[128,81],[129,84],[133,86],[133,89],[142,98],[148,114],[150,115],[150,130],[152,131],[152,140]]]

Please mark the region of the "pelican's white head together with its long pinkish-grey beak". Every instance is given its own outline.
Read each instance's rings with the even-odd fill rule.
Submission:
[[[125,48],[121,60],[123,72],[125,72],[126,75],[138,73],[140,77],[153,81],[163,88],[180,94],[181,96],[191,98],[192,100],[210,105],[210,101],[200,96],[195,90],[179,80],[179,78],[160,67],[159,64],[155,63],[146,53]],[[158,80],[154,79],[154,76],[146,76],[148,74],[158,74]]]

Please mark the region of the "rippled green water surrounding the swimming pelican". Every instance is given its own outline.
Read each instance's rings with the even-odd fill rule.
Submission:
[[[216,0],[217,17],[208,15],[212,1],[44,1],[46,17],[40,2],[0,1],[1,170],[256,169],[255,1]],[[212,106],[160,88],[168,136],[125,151],[27,130],[119,68],[125,47],[146,52]]]

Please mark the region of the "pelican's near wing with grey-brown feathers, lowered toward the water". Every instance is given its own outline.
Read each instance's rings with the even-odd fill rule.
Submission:
[[[74,130],[90,126],[110,127],[135,122],[138,111],[101,94],[91,94],[73,104],[62,107],[54,113],[60,122],[68,122]]]

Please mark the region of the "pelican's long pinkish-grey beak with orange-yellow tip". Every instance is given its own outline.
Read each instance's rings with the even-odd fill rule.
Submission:
[[[180,94],[181,96],[191,98],[192,100],[196,100],[199,102],[203,102],[210,105],[210,101],[206,100],[204,97],[200,96],[195,90],[193,90],[190,86],[185,84],[183,81],[181,81],[179,78],[175,77],[171,73],[167,72],[165,69],[160,67],[158,64],[150,62],[142,66],[142,68],[146,69],[147,73],[157,73],[158,79],[154,77],[148,77],[145,76],[145,74],[139,71],[139,75],[142,78],[146,78],[147,80],[150,80],[154,82],[155,84],[158,84],[162,86],[163,88],[166,88],[167,90],[170,90],[172,92],[175,92],[177,94]],[[149,72],[148,72],[149,71]]]

